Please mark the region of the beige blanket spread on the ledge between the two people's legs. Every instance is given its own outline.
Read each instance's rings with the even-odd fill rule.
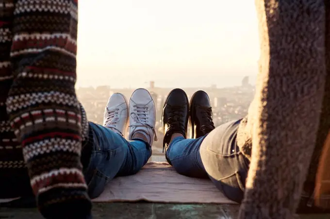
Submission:
[[[207,179],[175,172],[166,162],[149,162],[135,175],[117,177],[94,202],[234,203]],[[10,200],[0,200],[8,202]]]

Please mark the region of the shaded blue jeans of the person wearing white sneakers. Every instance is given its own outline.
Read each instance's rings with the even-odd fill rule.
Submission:
[[[97,198],[115,176],[132,175],[141,170],[152,153],[147,142],[127,141],[109,128],[91,122],[89,140],[84,147],[91,147],[88,165],[83,167],[91,199]]]

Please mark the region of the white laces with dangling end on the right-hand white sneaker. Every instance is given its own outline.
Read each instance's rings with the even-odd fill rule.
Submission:
[[[148,116],[148,107],[146,107],[144,105],[143,106],[142,105],[134,105],[133,107],[134,107],[133,110],[135,112],[131,112],[131,116],[132,116],[132,118],[133,118],[133,120],[135,121],[136,124],[130,125],[129,127],[145,127],[145,126],[147,126],[153,132],[154,141],[158,141],[155,127],[148,124],[148,117],[147,117]]]

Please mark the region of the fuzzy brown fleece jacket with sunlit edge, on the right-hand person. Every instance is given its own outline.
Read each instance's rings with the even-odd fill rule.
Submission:
[[[251,161],[239,218],[292,219],[306,174],[315,180],[330,126],[329,1],[256,0],[256,6],[261,58],[237,136]]]

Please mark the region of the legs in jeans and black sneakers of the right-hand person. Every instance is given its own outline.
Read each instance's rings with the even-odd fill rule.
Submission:
[[[188,121],[192,139],[186,139]],[[175,89],[163,109],[166,159],[182,175],[210,178],[229,199],[240,203],[249,161],[236,143],[239,124],[237,120],[215,128],[205,92],[196,92],[189,103],[187,95]]]

